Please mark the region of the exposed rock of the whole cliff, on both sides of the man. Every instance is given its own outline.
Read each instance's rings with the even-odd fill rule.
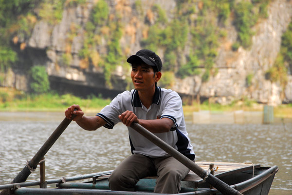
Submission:
[[[102,94],[104,97],[114,97],[127,89],[128,69],[118,65],[112,81],[112,87],[106,86],[103,68],[98,66],[82,67],[79,52],[84,45],[85,24],[89,20],[94,0],[88,0],[85,5],[66,7],[63,18],[59,24],[52,25],[40,20],[34,27],[31,37],[26,42],[24,59],[30,65],[45,65],[51,82],[51,87],[61,93],[73,93],[80,96],[89,94]],[[125,56],[134,54],[142,49],[140,42],[145,36],[145,22],[154,22],[149,15],[151,3],[141,0],[144,15],[134,9],[135,0],[124,0],[123,6],[116,0],[108,0],[110,14],[116,9],[123,9],[121,22],[125,25],[120,45]],[[156,0],[167,13],[168,18],[173,18],[175,0]],[[292,102],[292,75],[289,71],[288,84],[284,91],[279,83],[271,83],[265,79],[265,72],[273,65],[280,50],[281,36],[286,31],[292,18],[291,0],[274,0],[268,7],[267,19],[261,19],[254,27],[253,45],[250,49],[239,48],[237,52],[231,50],[231,45],[236,41],[237,32],[234,26],[227,26],[227,37],[220,43],[216,67],[218,73],[207,82],[201,82],[199,76],[176,78],[172,89],[182,96],[214,97],[221,103],[230,103],[232,100],[247,97],[261,103],[272,105]],[[75,36],[69,40],[72,28]],[[70,42],[70,44],[68,44]],[[99,53],[107,53],[104,37],[100,39]],[[19,43],[20,44],[20,43]],[[69,47],[70,45],[70,47]],[[127,51],[127,52],[126,52]],[[19,53],[22,51],[19,50]],[[70,53],[72,59],[69,65],[64,63],[64,54]],[[158,51],[163,57],[163,53]],[[122,62],[121,64],[123,64]],[[29,78],[14,67],[7,73],[4,86],[16,87],[27,91]],[[253,75],[251,84],[247,85],[246,78]],[[285,97],[280,94],[284,92]]]

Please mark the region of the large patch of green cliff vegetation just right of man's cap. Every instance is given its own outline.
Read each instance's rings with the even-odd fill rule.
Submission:
[[[152,12],[157,15],[157,19],[150,25],[148,36],[142,41],[142,45],[154,51],[164,49],[164,68],[167,71],[174,71],[182,78],[201,75],[202,81],[208,81],[213,72],[216,72],[214,59],[217,56],[219,39],[224,38],[219,26],[224,27],[230,13],[233,12],[238,42],[232,45],[232,49],[237,51],[239,46],[248,48],[252,44],[251,37],[254,34],[251,29],[259,17],[267,16],[269,2],[269,0],[177,1],[175,19],[171,21],[164,19],[165,11],[154,5]],[[192,4],[196,4],[198,9],[190,6]],[[210,16],[210,13],[213,15]],[[191,42],[186,43],[187,37],[191,38]],[[183,64],[180,59],[186,46],[191,51],[186,56],[186,63]],[[200,71],[202,67],[204,71]]]

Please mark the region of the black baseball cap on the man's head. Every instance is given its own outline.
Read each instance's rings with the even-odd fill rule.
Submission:
[[[156,66],[157,70],[160,72],[162,69],[162,62],[158,55],[156,55],[155,52],[148,50],[148,49],[141,49],[140,51],[137,51],[135,55],[131,55],[127,62],[130,64],[134,64],[136,62],[141,62],[141,60],[146,65],[152,65]]]

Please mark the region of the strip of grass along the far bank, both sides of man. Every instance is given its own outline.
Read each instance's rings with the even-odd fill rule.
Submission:
[[[43,112],[64,112],[72,104],[79,104],[84,112],[97,113],[103,107],[110,104],[110,98],[102,98],[91,95],[87,98],[80,98],[71,94],[57,95],[54,93],[42,95],[28,95],[20,91],[9,88],[0,88],[0,112],[16,111],[43,111]],[[208,100],[202,104],[184,105],[185,115],[193,112],[209,110],[211,112],[233,112],[243,111],[263,111],[263,104],[258,104],[250,100],[237,101],[229,105],[209,103]],[[274,107],[274,116],[279,118],[292,118],[292,104]]]

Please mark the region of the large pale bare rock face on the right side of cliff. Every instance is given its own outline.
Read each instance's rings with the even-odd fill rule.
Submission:
[[[236,30],[230,26],[225,43],[219,48],[216,64],[218,74],[206,83],[200,79],[188,78],[176,81],[174,89],[185,94],[200,94],[205,97],[215,97],[219,103],[228,103],[240,97],[255,99],[261,103],[281,104],[279,83],[271,83],[265,79],[265,72],[273,65],[280,50],[281,36],[285,32],[292,17],[292,2],[276,0],[269,7],[269,18],[260,21],[254,28],[251,49],[239,48],[232,52],[228,46],[236,39]],[[253,80],[247,87],[246,77],[252,74]],[[291,102],[292,75],[285,88],[286,102]],[[183,86],[183,88],[182,88]]]

